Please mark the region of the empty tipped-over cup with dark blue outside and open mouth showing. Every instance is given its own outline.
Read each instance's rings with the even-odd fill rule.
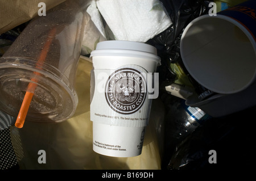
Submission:
[[[219,94],[247,89],[256,76],[255,17],[247,1],[203,15],[185,28],[180,52],[185,68],[200,85]]]

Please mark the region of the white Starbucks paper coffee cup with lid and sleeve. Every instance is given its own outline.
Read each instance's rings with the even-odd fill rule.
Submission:
[[[93,150],[112,157],[137,156],[150,115],[148,85],[160,65],[156,48],[134,41],[102,41],[91,57]]]

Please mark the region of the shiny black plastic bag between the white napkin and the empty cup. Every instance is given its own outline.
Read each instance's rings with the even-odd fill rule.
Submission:
[[[160,0],[166,8],[172,24],[167,30],[147,41],[158,49],[162,65],[159,66],[159,81],[163,85],[171,85],[176,73],[170,64],[182,64],[180,57],[180,38],[184,28],[195,18],[208,13],[209,2],[203,0]]]

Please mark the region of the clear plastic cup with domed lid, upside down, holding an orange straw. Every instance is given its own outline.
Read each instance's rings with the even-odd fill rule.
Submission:
[[[16,117],[32,92],[26,120],[52,123],[75,113],[74,88],[86,1],[65,1],[32,19],[0,58],[0,108]],[[31,89],[31,85],[34,89]]]

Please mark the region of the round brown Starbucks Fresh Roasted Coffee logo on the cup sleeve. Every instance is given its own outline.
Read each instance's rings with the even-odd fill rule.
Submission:
[[[146,79],[138,70],[118,69],[106,82],[105,97],[115,112],[122,114],[137,112],[146,99]]]

